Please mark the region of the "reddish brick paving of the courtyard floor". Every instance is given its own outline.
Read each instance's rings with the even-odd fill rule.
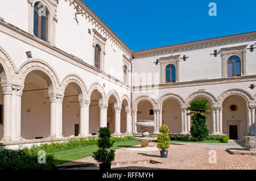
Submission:
[[[137,145],[140,146],[140,145]],[[151,143],[155,146],[155,143]],[[171,145],[168,149],[168,158],[160,158],[159,151],[131,151],[125,148],[115,152],[115,162],[112,169],[253,169],[256,170],[256,156],[232,155],[226,148],[242,148],[232,144],[194,144],[182,143]],[[217,154],[217,163],[209,163],[209,151]],[[152,164],[150,160],[161,163]],[[92,157],[77,159],[61,165],[77,165],[81,163],[96,163]],[[99,169],[94,167],[75,167],[72,169]]]

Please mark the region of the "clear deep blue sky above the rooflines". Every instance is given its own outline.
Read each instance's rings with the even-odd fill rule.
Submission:
[[[256,31],[255,0],[83,0],[131,50]],[[210,2],[217,16],[209,16]]]

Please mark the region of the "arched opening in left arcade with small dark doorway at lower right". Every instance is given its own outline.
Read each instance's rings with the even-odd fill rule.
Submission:
[[[80,104],[81,89],[71,82],[65,89],[63,99],[63,136],[79,136],[80,133]]]

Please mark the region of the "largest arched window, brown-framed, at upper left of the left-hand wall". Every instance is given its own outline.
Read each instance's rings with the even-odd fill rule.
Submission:
[[[48,13],[46,6],[41,2],[34,5],[34,35],[48,41]]]

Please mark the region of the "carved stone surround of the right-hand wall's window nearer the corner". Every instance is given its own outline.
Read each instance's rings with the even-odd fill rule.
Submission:
[[[166,83],[166,66],[175,65],[176,82],[180,81],[180,54],[175,56],[160,57],[160,82]],[[172,83],[172,82],[170,82]]]

